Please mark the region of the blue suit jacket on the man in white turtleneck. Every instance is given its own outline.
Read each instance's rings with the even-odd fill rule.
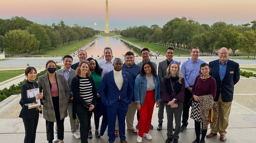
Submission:
[[[118,98],[120,95],[121,103],[124,108],[128,108],[134,96],[134,88],[129,73],[122,71],[123,85],[118,89],[114,80],[114,73],[111,70],[105,73],[99,88],[99,95],[102,103],[107,107],[119,108]]]

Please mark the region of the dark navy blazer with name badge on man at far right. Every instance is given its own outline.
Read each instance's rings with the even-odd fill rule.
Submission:
[[[217,92],[214,101],[218,101],[219,95],[221,93],[222,101],[231,102],[233,101],[234,95],[234,85],[240,79],[240,69],[239,64],[228,59],[227,70],[224,79],[221,82],[219,76],[219,59],[209,62],[211,67],[211,75],[216,80]]]

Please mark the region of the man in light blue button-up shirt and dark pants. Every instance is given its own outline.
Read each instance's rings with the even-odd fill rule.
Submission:
[[[200,65],[205,63],[203,60],[199,59],[200,51],[198,47],[193,47],[190,52],[191,58],[183,62],[180,72],[185,79],[185,98],[183,104],[182,113],[182,125],[180,127],[180,132],[185,131],[188,126],[189,119],[189,108],[188,105],[190,99],[192,98],[192,87],[195,83],[195,78],[199,75]]]

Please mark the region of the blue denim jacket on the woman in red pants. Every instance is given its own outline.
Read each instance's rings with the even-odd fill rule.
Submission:
[[[155,102],[160,102],[160,82],[158,76],[153,76],[153,81],[155,84]],[[135,79],[134,84],[134,99],[136,103],[140,103],[141,107],[143,106],[143,102],[145,100],[147,91],[147,80],[146,76],[140,76],[140,74]]]

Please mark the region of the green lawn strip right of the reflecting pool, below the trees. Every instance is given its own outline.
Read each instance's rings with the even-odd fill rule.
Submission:
[[[156,45],[156,44],[152,44],[152,43],[148,43],[148,42],[142,42],[142,41],[127,38],[127,37],[120,37],[120,38],[125,39],[129,42],[133,42],[134,44],[139,45],[141,47],[144,47],[144,46],[148,47],[149,50],[152,50],[153,52],[161,53],[161,55],[166,53],[167,47],[162,46],[162,45]],[[175,56],[190,54],[188,51],[177,50],[177,49],[175,49],[174,53],[175,53]]]

